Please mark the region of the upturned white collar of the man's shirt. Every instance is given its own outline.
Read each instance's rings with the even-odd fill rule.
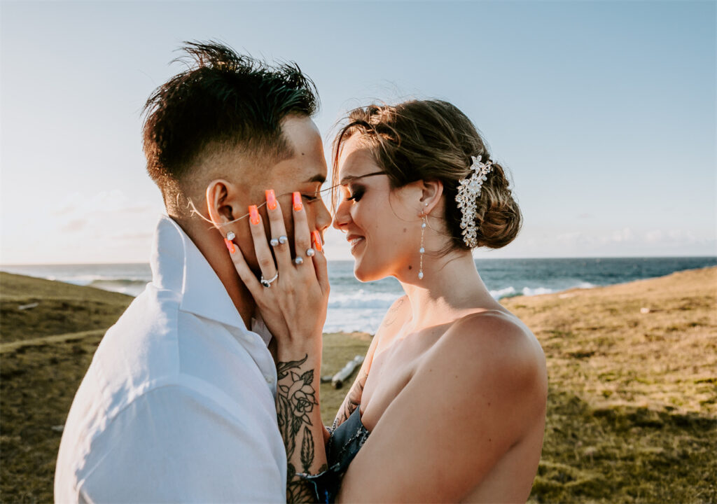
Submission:
[[[247,331],[212,266],[179,224],[162,215],[152,246],[152,282],[179,295],[179,309]],[[263,338],[262,338],[263,339]]]

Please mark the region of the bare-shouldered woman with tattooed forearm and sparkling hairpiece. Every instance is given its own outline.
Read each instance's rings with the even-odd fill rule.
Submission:
[[[520,227],[503,168],[470,120],[437,100],[353,110],[333,161],[333,227],[351,243],[356,277],[396,277],[406,295],[386,313],[329,434],[318,408],[320,325],[303,322],[323,323],[328,275],[300,201],[293,263],[275,246],[262,286],[234,260],[277,338],[288,498],[525,502],[543,441],[545,358],[471,254],[503,247]],[[283,221],[273,212],[276,244]],[[256,228],[257,257],[271,258]],[[277,273],[285,281],[267,282]],[[298,298],[313,310],[295,313]]]

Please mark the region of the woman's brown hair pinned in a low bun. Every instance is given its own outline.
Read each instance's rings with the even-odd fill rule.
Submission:
[[[418,180],[440,180],[445,194],[445,221],[451,249],[470,249],[462,236],[461,209],[455,196],[461,179],[473,171],[471,156],[490,159],[475,125],[455,105],[442,100],[411,100],[399,105],[369,105],[348,113],[347,124],[333,141],[333,180],[338,180],[338,158],[343,142],[355,133],[371,148],[391,187]],[[336,208],[336,192],[332,195]],[[493,161],[493,169],[476,199],[477,247],[498,249],[515,239],[523,217],[505,176]]]

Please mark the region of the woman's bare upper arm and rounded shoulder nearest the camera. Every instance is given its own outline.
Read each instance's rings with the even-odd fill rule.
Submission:
[[[532,336],[486,319],[442,336],[351,463],[340,501],[457,502],[543,414]]]

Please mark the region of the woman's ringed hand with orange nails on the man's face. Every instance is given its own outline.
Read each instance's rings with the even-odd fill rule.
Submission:
[[[318,231],[308,227],[300,193],[293,193],[295,257],[286,234],[282,209],[273,191],[266,191],[271,237],[267,238],[256,206],[250,206],[250,229],[262,280],[257,280],[239,247],[229,253],[267,328],[282,350],[306,350],[317,343],[326,320],[328,271]],[[273,255],[272,255],[273,250]],[[320,348],[319,348],[320,350]]]

